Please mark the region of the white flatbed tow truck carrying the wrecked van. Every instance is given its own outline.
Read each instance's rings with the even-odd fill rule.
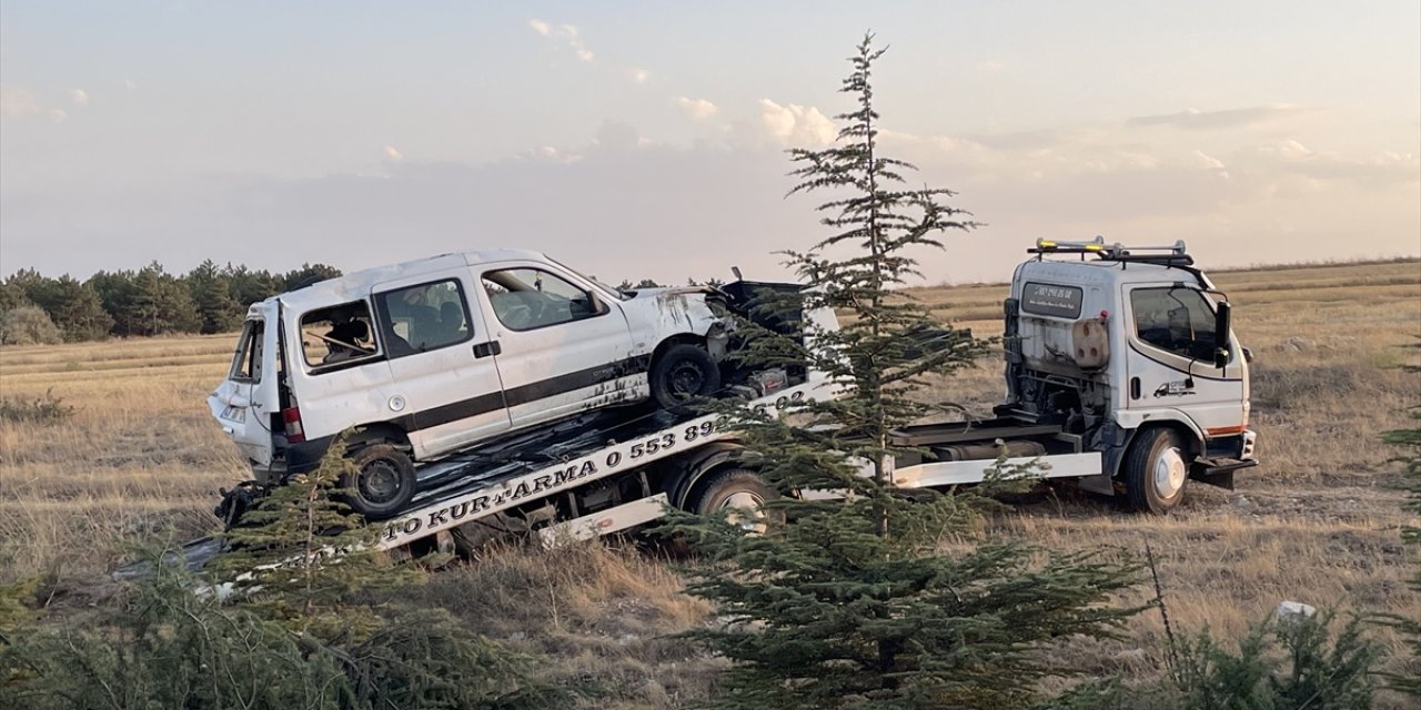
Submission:
[[[890,462],[897,486],[980,483],[996,459],[1037,464],[1043,479],[1164,514],[1187,483],[1232,488],[1258,464],[1248,427],[1249,352],[1231,328],[1228,297],[1194,266],[1184,241],[1124,247],[1037,240],[1003,301],[1006,402],[986,419],[908,426]],[[732,304],[760,288],[735,281]],[[804,318],[833,328],[833,312]],[[793,409],[841,388],[804,369],[735,379],[747,406]],[[948,398],[944,398],[948,399]],[[868,467],[865,466],[865,474]],[[379,547],[419,555],[469,551],[490,535],[530,534],[546,545],[642,525],[668,507],[753,508],[770,496],[723,415],[610,409],[480,443],[418,470],[419,493],[379,523]],[[253,500],[226,493],[229,523]],[[217,551],[189,545],[189,564]]]

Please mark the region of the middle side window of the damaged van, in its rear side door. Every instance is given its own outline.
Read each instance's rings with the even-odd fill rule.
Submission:
[[[473,338],[469,302],[459,281],[446,278],[377,294],[389,356],[446,348]]]

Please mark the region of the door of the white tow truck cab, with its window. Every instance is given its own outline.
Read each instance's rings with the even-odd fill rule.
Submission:
[[[1231,341],[1229,364],[1222,369],[1214,366],[1211,297],[1179,284],[1125,288],[1128,409],[1178,410],[1206,437],[1242,432],[1248,417],[1242,352]]]

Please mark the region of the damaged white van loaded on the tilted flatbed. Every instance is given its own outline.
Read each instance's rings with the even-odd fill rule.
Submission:
[[[257,483],[313,469],[354,430],[341,481],[399,513],[415,463],[591,409],[675,408],[720,388],[712,290],[622,294],[534,251],[443,254],[253,304],[207,398]]]

